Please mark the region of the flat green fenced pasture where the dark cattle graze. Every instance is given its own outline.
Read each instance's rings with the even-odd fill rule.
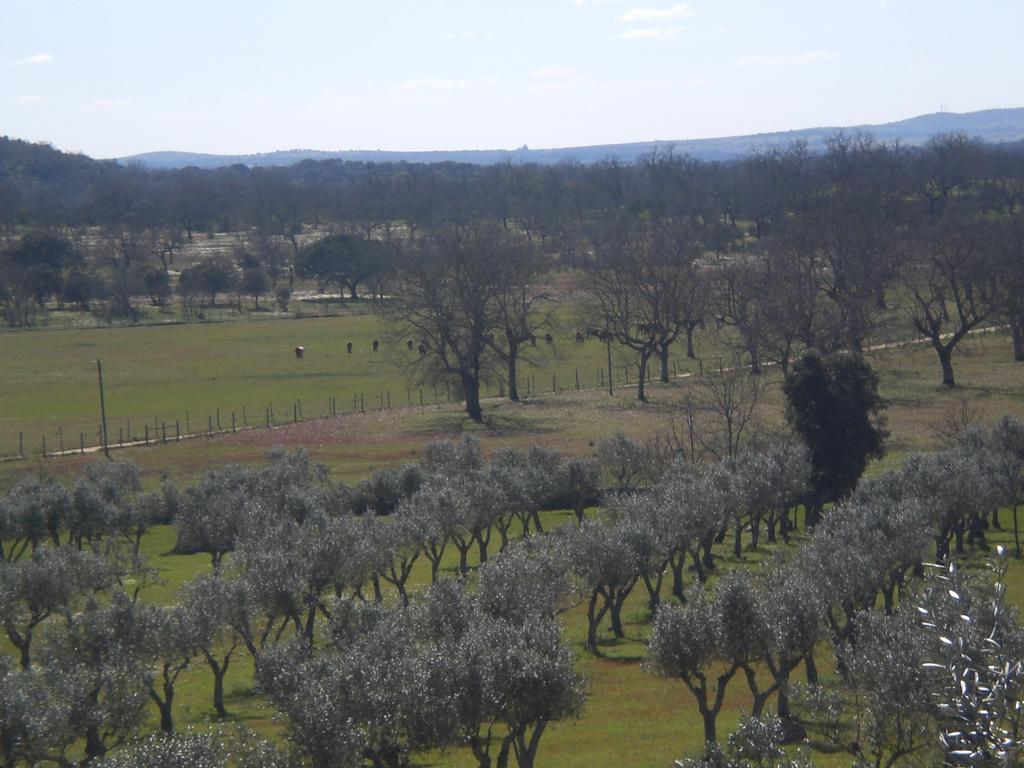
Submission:
[[[376,411],[389,401],[392,409],[419,406],[421,391],[408,370],[418,352],[408,350],[406,340],[387,344],[385,337],[383,319],[375,314],[2,333],[0,457],[17,455],[19,433],[28,455],[41,453],[44,436],[48,452],[61,444],[77,449],[82,433],[86,445],[99,442],[97,358],[103,361],[115,443],[121,435],[141,439],[145,425],[153,436],[162,436],[165,424],[169,437],[177,429],[205,432],[211,423],[216,430],[218,410],[220,429],[230,429],[231,414],[239,427],[265,426],[268,407],[276,424],[293,422],[298,408],[305,419],[324,416],[332,397],[339,414]],[[381,341],[378,352],[374,340]],[[301,360],[294,354],[299,345],[306,347]],[[682,348],[677,354],[679,372],[696,370]],[[527,347],[522,392],[574,390],[578,372],[581,387],[596,388],[605,355],[595,340],[577,344],[566,317],[554,343],[538,339]],[[616,383],[625,383],[632,361],[628,350],[613,347]],[[631,375],[635,382],[635,370]],[[483,394],[497,395],[498,387],[496,379]],[[443,386],[425,386],[422,401],[449,398]]]

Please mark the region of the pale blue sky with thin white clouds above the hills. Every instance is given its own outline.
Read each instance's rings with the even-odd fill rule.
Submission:
[[[1024,0],[0,0],[0,134],[567,146],[1024,105]]]

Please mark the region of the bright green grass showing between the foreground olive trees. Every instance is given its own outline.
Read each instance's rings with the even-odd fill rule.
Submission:
[[[544,514],[544,524],[550,530],[558,525],[572,525],[574,518],[568,512],[548,512]],[[1009,544],[1010,541],[1011,534],[1008,530],[994,531],[990,537],[992,544]],[[161,581],[143,591],[144,599],[155,602],[171,601],[181,584],[197,573],[209,570],[207,556],[174,555],[171,553],[173,545],[174,531],[170,526],[160,526],[146,537],[144,551],[150,557],[150,564],[159,569]],[[798,537],[790,548],[799,546]],[[785,549],[785,546],[780,544],[778,548]],[[757,552],[744,552],[741,559],[736,559],[728,543],[717,548],[717,553],[722,557],[720,570],[756,568],[771,552],[770,547],[762,547]],[[969,567],[982,567],[985,557],[984,552],[972,552]],[[445,556],[444,571],[449,575],[457,572],[457,556],[452,548]],[[429,566],[421,560],[412,578],[413,587],[423,587],[428,581]],[[1008,586],[1011,600],[1018,605],[1022,604],[1024,566],[1016,565],[1011,569]],[[602,655],[594,657],[584,651],[587,634],[585,605],[573,607],[562,615],[566,636],[588,678],[588,701],[580,720],[560,723],[545,734],[539,757],[540,765],[551,768],[578,765],[664,768],[671,765],[674,759],[699,752],[703,737],[701,722],[682,683],[655,677],[642,667],[650,617],[642,585],[638,585],[628,599],[623,617],[626,639],[614,639],[607,626],[604,626],[600,635]],[[823,676],[833,673],[826,643],[822,643],[818,664]],[[281,734],[281,724],[272,719],[271,709],[254,694],[252,674],[251,659],[244,652],[239,653],[225,681],[230,718],[245,722],[267,736],[278,737]],[[795,679],[802,680],[802,670]],[[175,699],[178,726],[201,726],[215,720],[216,714],[211,700],[212,677],[206,665],[201,659],[196,659],[178,683]],[[719,718],[719,731],[723,736],[734,727],[741,713],[749,712],[750,706],[750,693],[743,680],[737,677],[729,686],[726,703]],[[154,729],[159,725],[155,709],[151,713],[148,725]],[[475,761],[468,751],[450,750],[420,756],[415,764],[437,768],[473,768]],[[814,755],[814,764],[838,767],[848,765],[849,759],[842,755]]]

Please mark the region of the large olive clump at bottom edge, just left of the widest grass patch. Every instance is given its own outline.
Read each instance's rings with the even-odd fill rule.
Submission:
[[[441,580],[408,607],[346,603],[335,614],[331,647],[283,645],[258,666],[314,766],[401,766],[418,749],[466,744],[481,765],[495,751],[499,765],[512,755],[525,768],[547,726],[583,707],[557,626],[495,616],[461,581]]]

